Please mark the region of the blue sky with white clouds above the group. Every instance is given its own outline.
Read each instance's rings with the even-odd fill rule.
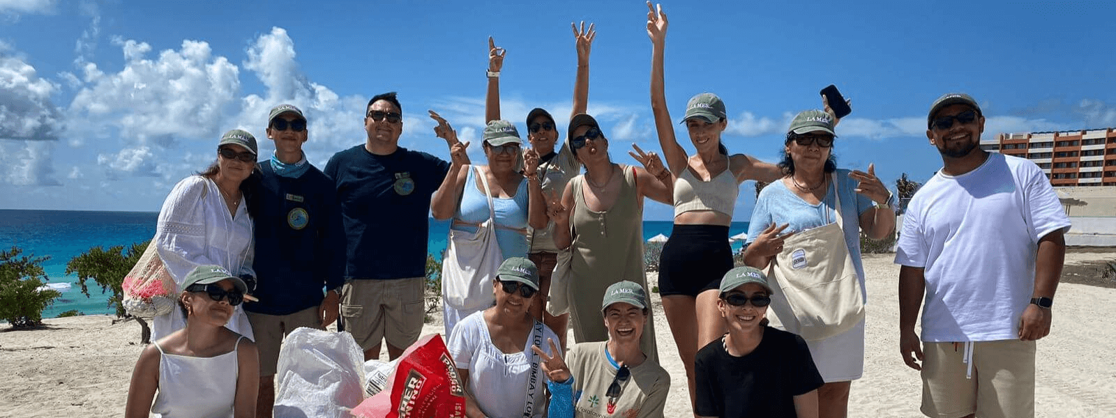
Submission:
[[[569,23],[593,21],[589,113],[613,139],[657,149],[651,42],[642,1],[0,0],[0,208],[158,211],[171,187],[213,161],[218,137],[264,138],[279,103],[309,118],[307,154],[364,142],[367,99],[400,91],[401,144],[446,157],[426,109],[463,140],[483,126],[488,36],[508,49],[503,117],[569,113]],[[675,119],[712,91],[733,153],[776,161],[795,113],[836,84],[853,99],[838,165],[894,186],[941,166],[925,140],[937,96],[982,105],[1001,132],[1116,126],[1116,6],[1110,2],[667,2],[666,96]],[[693,147],[682,127],[679,138]],[[561,129],[565,135],[565,129]],[[474,140],[473,144],[478,142]],[[473,146],[473,159],[481,161]],[[754,201],[742,186],[737,221]],[[671,208],[647,203],[645,217]]]

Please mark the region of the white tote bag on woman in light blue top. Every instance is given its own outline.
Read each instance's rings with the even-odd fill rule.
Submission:
[[[489,218],[477,226],[477,232],[450,229],[445,259],[442,260],[442,295],[445,303],[456,310],[488,308],[494,302],[492,280],[503,262],[496,241],[496,206],[488,178],[477,166],[471,167],[484,186],[489,203]],[[469,187],[465,184],[465,187]]]

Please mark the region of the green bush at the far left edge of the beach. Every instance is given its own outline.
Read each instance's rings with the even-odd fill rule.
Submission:
[[[41,325],[42,310],[62,295],[42,288],[49,280],[42,263],[50,257],[22,254],[18,246],[0,251],[0,319],[15,329]]]

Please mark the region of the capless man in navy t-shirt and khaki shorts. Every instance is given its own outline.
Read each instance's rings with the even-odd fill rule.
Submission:
[[[382,340],[395,359],[422,331],[430,200],[450,163],[398,146],[403,110],[395,93],[368,100],[364,129],[364,144],[326,164],[347,242],[340,315],[365,360],[379,358]]]

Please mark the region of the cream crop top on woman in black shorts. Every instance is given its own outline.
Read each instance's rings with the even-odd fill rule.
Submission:
[[[691,211],[713,211],[732,216],[740,193],[740,184],[732,175],[732,156],[724,171],[709,182],[702,182],[690,169],[689,163],[674,181],[674,216]]]

